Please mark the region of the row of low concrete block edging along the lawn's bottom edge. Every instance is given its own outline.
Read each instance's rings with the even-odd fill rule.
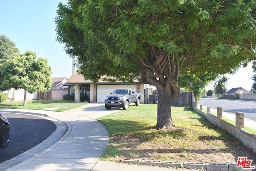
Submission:
[[[189,169],[208,169],[208,170],[233,170],[242,171],[241,167],[236,167],[236,164],[226,163],[196,163],[196,162],[176,162],[176,161],[153,161],[153,160],[141,160],[141,159],[121,159],[123,163],[151,165],[151,166],[168,166],[168,167],[180,167]],[[247,169],[251,171],[252,169]]]

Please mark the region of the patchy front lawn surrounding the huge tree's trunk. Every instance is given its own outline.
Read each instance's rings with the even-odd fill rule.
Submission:
[[[176,129],[156,130],[157,105],[132,105],[98,118],[110,136],[102,161],[122,158],[206,163],[236,163],[255,153],[226,131],[212,125],[191,107],[172,107]]]

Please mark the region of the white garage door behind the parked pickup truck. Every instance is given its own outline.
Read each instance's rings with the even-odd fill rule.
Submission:
[[[105,97],[110,95],[116,88],[133,88],[137,91],[136,84],[125,84],[125,85],[97,85],[97,102],[104,102]]]

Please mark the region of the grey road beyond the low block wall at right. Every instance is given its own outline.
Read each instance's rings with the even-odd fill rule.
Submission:
[[[240,111],[244,113],[245,118],[256,121],[256,102],[254,101],[201,98],[198,105],[209,106],[213,109],[222,107],[222,111],[232,114]]]

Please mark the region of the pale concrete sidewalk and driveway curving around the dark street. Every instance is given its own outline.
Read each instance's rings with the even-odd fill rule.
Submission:
[[[56,131],[36,147],[0,163],[0,171],[191,171],[98,161],[109,139],[106,127],[95,119],[118,110],[106,110],[104,103],[89,103],[65,112],[0,109],[0,112],[38,115],[57,126]]]

